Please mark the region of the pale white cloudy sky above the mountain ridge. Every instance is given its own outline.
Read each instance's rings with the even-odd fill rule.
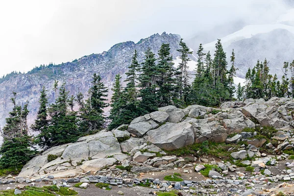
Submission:
[[[273,23],[290,8],[283,0],[1,0],[0,76],[164,31],[189,39],[238,20]]]

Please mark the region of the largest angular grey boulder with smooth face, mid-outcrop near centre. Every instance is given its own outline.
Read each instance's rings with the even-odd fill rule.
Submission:
[[[173,150],[194,143],[193,127],[189,123],[166,123],[147,132],[147,141],[165,149]]]

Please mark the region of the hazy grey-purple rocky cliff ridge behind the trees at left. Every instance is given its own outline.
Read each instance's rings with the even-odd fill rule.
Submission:
[[[67,88],[71,95],[75,95],[79,89],[84,95],[92,80],[93,73],[99,73],[105,86],[112,88],[115,75],[120,73],[125,79],[125,72],[131,62],[134,50],[138,51],[139,62],[143,61],[144,51],[150,48],[155,54],[160,49],[162,43],[170,44],[171,53],[175,58],[178,56],[176,49],[179,48],[178,43],[180,36],[175,34],[163,33],[161,35],[154,34],[146,39],[141,39],[138,43],[131,41],[114,45],[108,51],[100,54],[91,54],[83,56],[73,62],[67,62],[60,65],[49,65],[46,68],[35,68],[25,74],[12,74],[0,80],[0,127],[5,124],[5,118],[12,108],[10,101],[12,92],[17,92],[17,102],[24,104],[29,102],[28,124],[33,123],[38,110],[38,100],[42,86],[49,91],[49,101],[54,101],[55,92],[52,91],[54,80],[58,80],[59,84],[63,81],[67,83]],[[109,92],[109,99],[111,97]]]

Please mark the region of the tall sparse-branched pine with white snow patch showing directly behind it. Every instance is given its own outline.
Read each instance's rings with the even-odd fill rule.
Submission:
[[[186,103],[190,94],[188,62],[191,61],[191,59],[188,57],[188,54],[192,54],[193,51],[190,51],[186,43],[183,42],[183,39],[181,39],[179,45],[181,48],[177,49],[177,51],[180,52],[181,63],[179,63],[176,73],[176,77],[178,78],[177,92],[179,93],[179,99]]]

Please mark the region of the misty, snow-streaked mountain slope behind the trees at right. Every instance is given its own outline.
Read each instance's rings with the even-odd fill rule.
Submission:
[[[232,49],[235,50],[235,65],[239,68],[237,76],[244,78],[247,69],[253,68],[258,59],[263,61],[267,58],[270,61],[270,73],[277,73],[278,77],[281,77],[284,61],[292,62],[294,59],[293,16],[294,9],[290,9],[270,24],[250,25],[236,21],[225,26],[220,25],[206,33],[198,33],[187,43],[195,51],[202,43],[206,51],[210,50],[214,53],[217,39],[221,39],[223,48],[228,54],[228,61]]]

